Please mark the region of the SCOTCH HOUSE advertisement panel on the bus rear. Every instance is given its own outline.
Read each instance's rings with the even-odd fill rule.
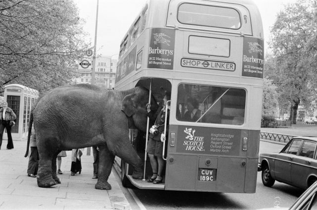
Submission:
[[[179,126],[176,152],[238,156],[241,130]]]

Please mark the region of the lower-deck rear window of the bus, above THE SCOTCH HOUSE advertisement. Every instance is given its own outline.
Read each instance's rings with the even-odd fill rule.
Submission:
[[[242,125],[245,120],[244,89],[180,84],[177,92],[179,121]]]

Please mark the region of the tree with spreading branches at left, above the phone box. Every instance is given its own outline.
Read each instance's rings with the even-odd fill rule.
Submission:
[[[69,84],[90,43],[72,0],[0,0],[0,87]]]

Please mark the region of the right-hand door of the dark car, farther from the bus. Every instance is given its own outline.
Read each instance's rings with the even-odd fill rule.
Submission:
[[[315,151],[317,143],[304,140],[297,157],[293,158],[292,163],[292,185],[306,188],[307,178],[310,174],[317,172],[315,166]]]

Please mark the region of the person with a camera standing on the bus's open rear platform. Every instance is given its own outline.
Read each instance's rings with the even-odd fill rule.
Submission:
[[[164,106],[160,107],[159,114],[156,116],[153,111],[151,111],[151,104],[147,104],[148,116],[151,119],[156,119],[154,126],[156,132],[151,132],[149,135],[149,142],[147,146],[147,153],[150,158],[151,167],[153,175],[148,180],[148,182],[153,182],[153,184],[159,184],[163,180],[163,169],[165,161],[163,160],[163,142],[166,140],[167,136],[164,135],[165,123],[166,123],[166,135],[168,134],[168,119],[169,119],[169,109],[170,104],[167,101],[170,100],[170,93],[166,92],[164,95]],[[167,111],[166,111],[167,110]],[[158,112],[156,112],[158,113]],[[165,114],[167,114],[167,122],[165,122]],[[152,128],[153,128],[152,127]],[[151,129],[150,129],[151,130]]]

